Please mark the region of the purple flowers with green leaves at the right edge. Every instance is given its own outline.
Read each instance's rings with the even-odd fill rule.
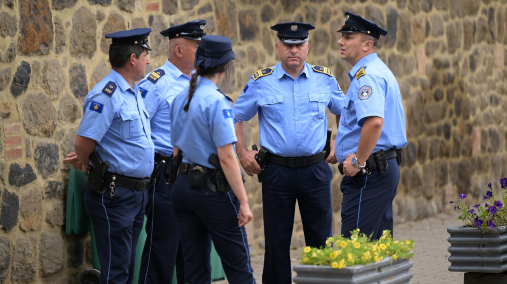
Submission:
[[[483,230],[507,225],[507,211],[504,209],[504,204],[507,203],[507,177],[500,180],[500,186],[503,189],[503,196],[497,199],[491,183],[488,184],[489,190],[483,197],[483,200],[486,200],[484,206],[479,203],[470,208],[464,201],[466,195],[458,195],[458,201],[451,201],[451,203],[458,203],[456,209],[462,210],[458,220],[463,220],[465,227],[477,227]]]

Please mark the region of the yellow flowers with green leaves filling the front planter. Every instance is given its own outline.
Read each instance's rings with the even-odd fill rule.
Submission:
[[[350,238],[342,236],[330,237],[325,241],[325,247],[306,246],[301,252],[300,263],[312,265],[329,265],[342,269],[356,264],[379,262],[392,257],[411,258],[414,256],[414,241],[412,239],[392,240],[389,230],[384,230],[378,240],[359,234],[359,229],[352,231]]]

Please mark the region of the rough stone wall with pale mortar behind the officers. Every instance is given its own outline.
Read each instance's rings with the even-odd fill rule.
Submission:
[[[379,55],[400,84],[409,140],[395,222],[445,210],[458,193],[478,197],[505,176],[505,0],[0,0],[0,283],[75,283],[91,266],[89,234],[64,233],[69,167],[61,159],[73,150],[84,97],[110,68],[105,33],[151,27],[149,71],[166,59],[159,31],[204,18],[208,34],[234,43],[221,87],[237,98],[252,73],[278,62],[269,27],[310,22],[307,61],[328,66],[346,90],[350,66],[336,43],[345,11],[389,30]],[[247,145],[256,143],[257,120],[247,129]],[[339,232],[341,176],[332,168]],[[249,241],[262,253],[257,179],[247,191]],[[293,244],[303,243],[297,216]]]

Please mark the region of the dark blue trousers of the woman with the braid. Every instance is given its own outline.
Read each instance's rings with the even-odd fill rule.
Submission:
[[[238,226],[239,201],[232,190],[191,188],[188,175],[179,173],[172,187],[172,206],[179,223],[185,283],[211,282],[211,237],[229,283],[255,284],[245,228]]]

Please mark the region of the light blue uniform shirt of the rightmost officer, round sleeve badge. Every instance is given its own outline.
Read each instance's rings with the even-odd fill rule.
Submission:
[[[361,71],[363,67],[364,75]],[[377,53],[372,53],[361,58],[348,76],[350,87],[343,103],[335,143],[338,162],[342,163],[348,154],[356,153],[361,126],[370,116],[384,119],[382,134],[373,152],[405,147],[407,135],[402,96],[387,65]]]

